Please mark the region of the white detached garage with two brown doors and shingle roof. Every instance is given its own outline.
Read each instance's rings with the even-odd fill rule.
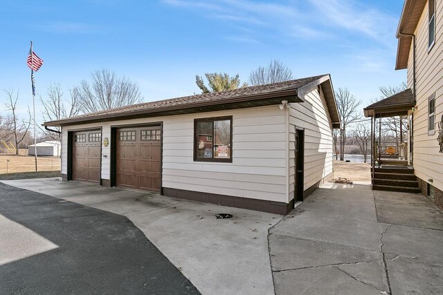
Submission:
[[[285,214],[332,176],[329,75],[166,99],[62,127],[64,180]]]

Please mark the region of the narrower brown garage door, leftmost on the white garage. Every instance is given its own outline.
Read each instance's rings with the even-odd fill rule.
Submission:
[[[73,133],[72,179],[100,183],[100,130]]]

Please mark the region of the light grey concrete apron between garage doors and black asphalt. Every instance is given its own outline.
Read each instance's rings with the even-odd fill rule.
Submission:
[[[60,178],[2,182],[126,216],[202,294],[274,294],[267,235],[282,216]]]

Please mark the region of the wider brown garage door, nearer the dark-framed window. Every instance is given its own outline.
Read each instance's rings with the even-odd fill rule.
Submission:
[[[117,129],[116,185],[161,189],[161,126]]]

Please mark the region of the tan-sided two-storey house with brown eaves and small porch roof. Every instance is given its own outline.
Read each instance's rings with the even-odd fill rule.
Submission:
[[[406,111],[408,164],[422,194],[443,209],[443,1],[406,0],[397,39],[395,69],[407,69],[408,89],[368,106],[365,115]]]

